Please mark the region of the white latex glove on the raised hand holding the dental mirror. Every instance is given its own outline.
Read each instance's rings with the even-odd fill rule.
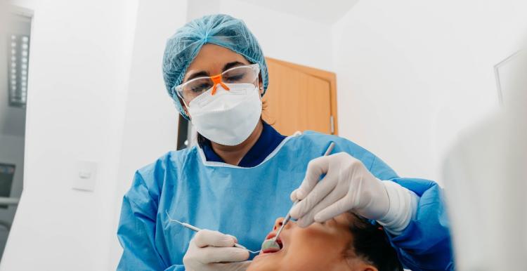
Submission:
[[[397,234],[410,223],[417,209],[417,195],[401,185],[375,178],[361,161],[346,152],[311,160],[306,177],[291,193],[291,199],[301,200],[290,213],[300,227],[351,211],[377,220]]]

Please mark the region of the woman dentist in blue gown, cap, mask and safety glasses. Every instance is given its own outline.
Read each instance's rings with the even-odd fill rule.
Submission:
[[[117,270],[245,270],[273,218],[301,227],[353,212],[388,233],[405,267],[453,270],[442,190],[401,178],[345,138],[284,136],[261,119],[266,60],[244,22],[208,15],[169,38],[163,77],[198,146],[167,152],[134,176],[118,229]],[[320,157],[335,143],[332,155]],[[320,178],[322,179],[320,180]],[[194,233],[169,216],[202,229]]]

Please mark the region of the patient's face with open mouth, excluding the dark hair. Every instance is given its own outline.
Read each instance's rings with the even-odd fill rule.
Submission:
[[[359,259],[348,258],[346,262],[344,255],[353,238],[349,230],[353,218],[351,214],[344,213],[325,223],[313,223],[306,228],[290,221],[278,239],[282,249],[275,253],[260,253],[247,271],[374,270]],[[273,231],[266,239],[276,235],[282,220],[276,220]]]

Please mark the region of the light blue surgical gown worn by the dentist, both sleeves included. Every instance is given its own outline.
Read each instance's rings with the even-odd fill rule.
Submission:
[[[311,159],[331,141],[333,153],[347,152],[379,179],[416,192],[417,216],[398,237],[390,237],[406,267],[452,270],[448,220],[439,187],[429,180],[399,178],[374,154],[334,135],[306,132],[287,138],[273,157],[252,168],[205,162],[193,147],[169,152],[135,174],[124,196],[117,232],[124,253],[117,270],[184,270],[183,256],[195,232],[169,223],[174,219],[238,237],[258,250],[275,218],[292,206],[289,193],[304,178]]]

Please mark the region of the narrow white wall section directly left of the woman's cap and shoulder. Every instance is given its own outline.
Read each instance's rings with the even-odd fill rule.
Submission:
[[[122,196],[134,172],[162,154],[176,150],[179,113],[167,94],[162,77],[162,55],[167,39],[186,20],[186,1],[139,2],[122,138],[114,226],[110,236],[110,267],[115,270],[122,249],[117,242]]]

